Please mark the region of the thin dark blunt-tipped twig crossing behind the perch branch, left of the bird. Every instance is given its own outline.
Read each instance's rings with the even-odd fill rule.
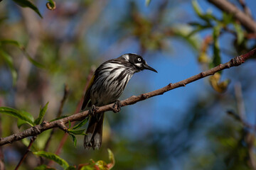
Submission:
[[[63,113],[63,106],[64,106],[64,103],[66,101],[66,99],[68,98],[68,93],[69,93],[69,89],[68,89],[68,85],[65,84],[65,87],[64,87],[64,94],[63,94],[63,98],[62,100],[60,101],[60,108],[58,110],[58,113],[57,113],[57,117],[56,118],[60,118],[60,115]],[[46,141],[46,145],[44,147],[44,151],[47,151],[48,150],[48,147],[50,146],[50,140],[51,138],[53,137],[53,134],[55,132],[55,129],[53,129],[51,132],[50,132],[50,136],[48,137],[48,140]]]

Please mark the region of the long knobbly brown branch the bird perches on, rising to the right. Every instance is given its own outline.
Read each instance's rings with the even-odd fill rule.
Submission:
[[[226,62],[225,64],[219,64],[217,67],[213,67],[212,69],[209,69],[205,72],[201,72],[200,74],[196,74],[193,77],[189,77],[188,79],[184,79],[182,81],[178,81],[174,84],[168,84],[167,86],[164,86],[161,89],[157,89],[155,91],[151,91],[146,94],[141,94],[139,96],[131,96],[124,101],[121,101],[121,106],[127,106],[132,105],[134,103],[137,103],[138,101],[144,101],[147,98],[151,98],[153,96],[158,96],[161,94],[164,94],[166,91],[170,91],[172,89],[176,89],[181,86],[186,86],[186,84],[189,84],[193,81],[196,81],[198,79],[203,79],[204,77],[208,77],[210,75],[215,74],[216,72],[219,72],[223,69],[228,69],[230,67],[236,67],[245,62],[249,57],[255,57],[256,56],[256,48],[250,52],[247,52],[245,55],[240,55],[238,57],[233,58],[229,62]],[[112,111],[112,107],[114,104],[109,104],[106,106],[97,107],[95,113],[105,112],[105,111]],[[46,122],[44,121],[41,125],[36,125],[31,128],[28,128],[27,130],[24,130],[23,132],[18,132],[13,135],[10,135],[8,137],[1,137],[0,138],[0,146],[6,145],[8,143],[12,143],[18,140],[22,140],[25,137],[29,136],[36,136],[39,135],[41,132],[44,132],[46,130],[52,129],[52,128],[60,128],[62,129],[63,126],[60,126],[61,124],[65,124],[78,120],[83,120],[89,115],[89,111],[83,111],[80,113],[77,113],[75,115],[70,115],[67,118],[62,118],[60,120],[55,120],[53,122]]]

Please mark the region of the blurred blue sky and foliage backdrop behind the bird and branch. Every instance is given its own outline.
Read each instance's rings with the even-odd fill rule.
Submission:
[[[255,18],[254,0],[230,0]],[[33,3],[33,4],[32,4]],[[180,81],[255,47],[256,32],[210,1],[56,0],[0,1],[0,106],[38,116],[79,111],[88,77],[105,60],[128,52],[158,70],[134,75],[121,99]],[[49,5],[49,4],[48,4]],[[256,22],[256,21],[255,21]],[[102,148],[87,151],[55,130],[47,151],[78,167],[90,159],[115,157],[113,169],[256,169],[255,59],[163,96],[107,113]],[[1,114],[1,136],[29,127]],[[31,150],[46,150],[51,130]],[[68,138],[66,138],[68,137]],[[14,169],[29,139],[1,147],[6,169]],[[37,154],[38,155],[38,154]],[[28,153],[20,169],[60,165]]]

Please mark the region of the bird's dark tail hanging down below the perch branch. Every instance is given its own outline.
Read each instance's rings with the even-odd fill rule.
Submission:
[[[89,125],[86,130],[84,146],[85,149],[99,149],[102,145],[102,128],[104,112],[90,116]]]

